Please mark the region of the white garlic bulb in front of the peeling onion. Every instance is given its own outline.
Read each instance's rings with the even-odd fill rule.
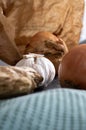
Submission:
[[[43,81],[39,86],[47,87],[54,79],[56,73],[53,63],[41,54],[29,53],[28,55],[23,55],[23,59],[16,66],[31,67],[37,71],[43,77]]]

